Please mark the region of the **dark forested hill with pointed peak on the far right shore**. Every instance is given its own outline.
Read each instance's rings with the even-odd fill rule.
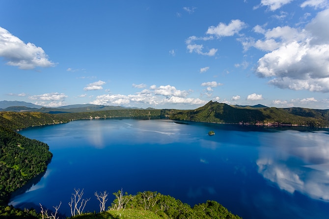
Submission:
[[[327,109],[237,108],[213,101],[198,109],[177,112],[170,118],[214,123],[329,127]]]

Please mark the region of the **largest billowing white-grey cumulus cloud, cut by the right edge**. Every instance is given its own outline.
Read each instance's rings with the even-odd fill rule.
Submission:
[[[258,60],[258,76],[272,78],[269,83],[280,88],[329,92],[328,20],[329,9],[326,9],[304,29],[264,30],[265,40],[276,42],[278,47]],[[257,27],[257,31],[262,30]]]

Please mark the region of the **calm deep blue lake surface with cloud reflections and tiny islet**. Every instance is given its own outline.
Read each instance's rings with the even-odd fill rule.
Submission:
[[[134,119],[28,128],[20,134],[47,143],[54,157],[9,204],[52,210],[61,201],[59,212],[71,216],[75,188],[91,198],[91,212],[99,212],[94,192],[122,188],[191,206],[216,200],[244,219],[328,219],[329,133],[298,129]]]

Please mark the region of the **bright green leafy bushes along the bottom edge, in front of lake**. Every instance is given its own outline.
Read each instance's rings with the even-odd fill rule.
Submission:
[[[120,194],[120,191],[114,194]],[[86,213],[72,219],[240,219],[216,201],[190,205],[158,192],[118,196],[108,211]]]

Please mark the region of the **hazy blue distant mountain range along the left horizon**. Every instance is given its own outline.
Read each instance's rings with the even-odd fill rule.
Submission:
[[[70,113],[70,112],[91,112],[91,111],[103,111],[113,109],[140,109],[140,108],[126,108],[121,106],[104,106],[94,104],[75,104],[56,108],[48,108],[44,106],[27,103],[24,101],[0,101],[0,111],[12,111],[12,112],[44,112],[44,113]],[[147,108],[153,109],[153,108]]]

